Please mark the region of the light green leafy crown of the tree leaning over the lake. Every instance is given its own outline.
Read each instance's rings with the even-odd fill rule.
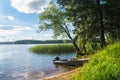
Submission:
[[[66,32],[69,32],[65,27],[66,22],[64,11],[55,5],[51,5],[41,13],[39,19],[39,29],[41,31],[51,29],[53,31],[54,38],[57,38],[58,36],[66,36]]]

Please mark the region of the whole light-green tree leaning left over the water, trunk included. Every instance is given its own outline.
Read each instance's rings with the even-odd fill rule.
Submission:
[[[40,30],[43,31],[49,29],[53,30],[54,38],[61,35],[67,35],[73,42],[77,54],[82,55],[81,49],[76,43],[78,35],[72,36],[74,34],[72,31],[75,28],[72,26],[72,22],[66,18],[64,9],[60,9],[56,5],[51,5],[45,12],[40,14]]]

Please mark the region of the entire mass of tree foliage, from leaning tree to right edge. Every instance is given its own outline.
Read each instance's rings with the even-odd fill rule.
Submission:
[[[93,52],[120,40],[120,0],[57,0],[57,3],[40,14],[39,28],[52,30],[55,39],[69,38],[75,42],[76,52]]]

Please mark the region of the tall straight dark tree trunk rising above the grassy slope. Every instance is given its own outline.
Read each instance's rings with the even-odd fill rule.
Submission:
[[[100,21],[100,45],[101,48],[103,49],[104,46],[106,45],[105,36],[104,36],[103,13],[101,11],[100,0],[96,0],[96,1],[98,6],[99,21]]]

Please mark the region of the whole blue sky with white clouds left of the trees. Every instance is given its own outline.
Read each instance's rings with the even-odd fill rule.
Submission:
[[[50,1],[0,0],[0,42],[52,39],[50,31],[38,32],[39,13],[49,6]]]

